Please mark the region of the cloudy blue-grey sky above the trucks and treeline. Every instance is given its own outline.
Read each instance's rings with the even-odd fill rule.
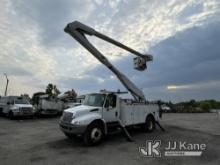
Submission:
[[[0,0],[0,95],[44,91],[86,94],[125,90],[63,29],[75,20],[143,53],[145,71],[133,69],[134,55],[105,41],[88,39],[148,100],[220,100],[219,0]]]

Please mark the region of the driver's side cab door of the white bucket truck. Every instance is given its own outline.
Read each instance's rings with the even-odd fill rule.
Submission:
[[[107,95],[102,114],[106,122],[118,121],[119,108],[117,106],[117,96],[115,94]]]

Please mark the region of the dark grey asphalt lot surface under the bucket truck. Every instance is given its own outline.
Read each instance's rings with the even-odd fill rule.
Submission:
[[[122,134],[106,137],[96,147],[86,147],[82,140],[70,140],[59,130],[59,118],[8,120],[0,117],[0,164],[210,164],[220,162],[220,114],[165,114],[161,124],[166,129],[153,133],[130,130],[135,142]],[[146,140],[161,140],[161,157],[147,158],[139,152]],[[199,157],[164,156],[169,141],[206,144]]]

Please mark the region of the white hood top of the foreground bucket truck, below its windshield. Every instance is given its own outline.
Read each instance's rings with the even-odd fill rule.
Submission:
[[[78,114],[78,113],[85,113],[89,112],[93,109],[100,109],[101,107],[93,107],[93,106],[88,106],[88,105],[79,105],[76,107],[71,107],[65,110],[65,112],[71,112],[73,114]]]

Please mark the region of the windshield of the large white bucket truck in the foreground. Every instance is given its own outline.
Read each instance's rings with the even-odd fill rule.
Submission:
[[[89,94],[86,96],[83,105],[102,107],[105,101],[105,94]]]

